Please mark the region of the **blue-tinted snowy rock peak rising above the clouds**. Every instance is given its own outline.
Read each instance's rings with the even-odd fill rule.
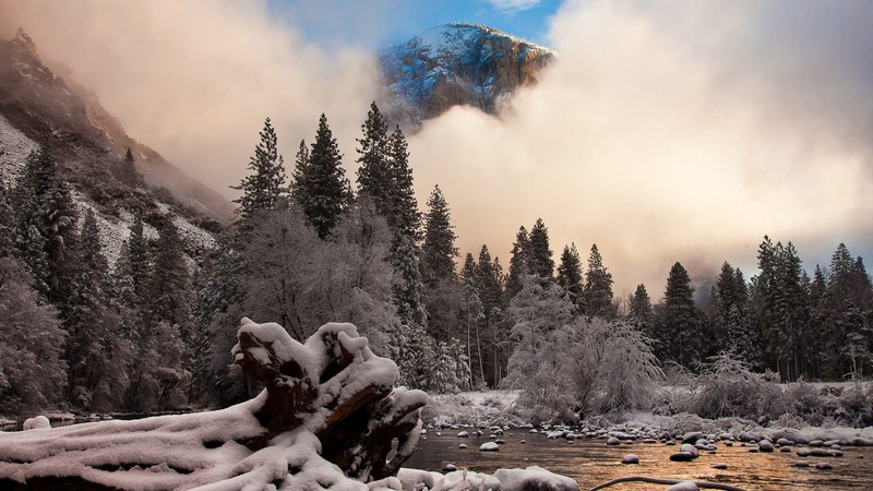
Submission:
[[[387,112],[412,125],[457,105],[497,113],[503,98],[535,83],[554,57],[492,27],[440,25],[380,52]]]

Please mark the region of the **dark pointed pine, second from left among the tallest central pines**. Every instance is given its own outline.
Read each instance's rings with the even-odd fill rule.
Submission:
[[[303,158],[306,164],[302,163]],[[322,113],[312,149],[308,155],[303,148],[297,153],[295,180],[291,183],[291,196],[322,239],[330,237],[351,201],[351,188],[345,177],[342,159],[327,118]]]

